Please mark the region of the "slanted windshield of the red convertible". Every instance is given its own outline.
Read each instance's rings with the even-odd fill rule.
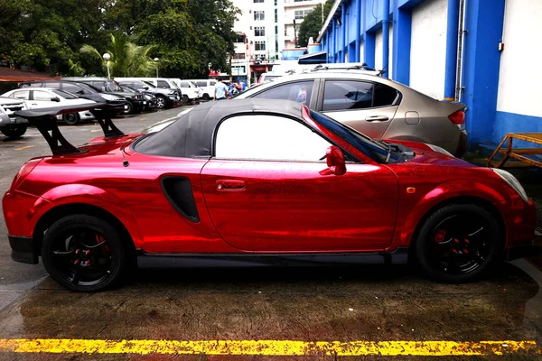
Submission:
[[[387,144],[375,141],[369,136],[350,128],[350,126],[343,125],[329,116],[324,116],[322,113],[313,110],[310,113],[314,122],[340,136],[371,159],[381,163],[388,162],[389,147]]]

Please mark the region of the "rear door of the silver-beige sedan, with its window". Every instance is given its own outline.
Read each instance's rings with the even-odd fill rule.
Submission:
[[[396,89],[378,82],[325,79],[317,110],[380,139],[395,117],[400,101]]]

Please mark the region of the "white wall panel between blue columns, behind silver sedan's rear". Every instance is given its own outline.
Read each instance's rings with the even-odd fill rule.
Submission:
[[[410,86],[436,99],[444,98],[447,15],[447,0],[426,0],[412,10]]]

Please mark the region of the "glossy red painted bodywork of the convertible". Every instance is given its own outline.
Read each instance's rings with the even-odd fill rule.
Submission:
[[[75,204],[108,212],[136,248],[151,254],[391,252],[412,242],[435,207],[471,199],[500,215],[507,245],[534,236],[532,201],[493,171],[412,142],[401,143],[414,149],[413,160],[378,164],[314,123],[306,108],[304,120],[360,162],[333,174],[325,171],[341,163],[333,152],[328,165],[189,159],[129,150],[139,134],[97,138],[80,147],[84,153],[42,157],[23,168],[3,199],[9,234],[32,237],[45,215]],[[161,180],[169,176],[190,180],[198,222],[165,197]]]

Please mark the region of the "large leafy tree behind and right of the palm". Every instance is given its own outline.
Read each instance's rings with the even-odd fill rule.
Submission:
[[[234,52],[233,24],[238,14],[229,0],[117,0],[110,3],[106,23],[134,36],[138,44],[153,44],[160,71],[171,77],[207,75],[229,69]]]

